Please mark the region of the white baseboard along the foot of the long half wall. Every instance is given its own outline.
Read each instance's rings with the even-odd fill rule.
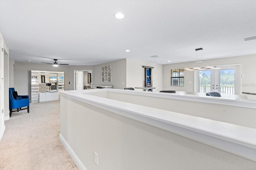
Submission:
[[[68,145],[67,141],[64,139],[64,137],[61,135],[60,133],[60,142],[62,143],[62,145],[66,148],[66,150],[68,151],[70,157],[72,158],[72,160],[74,161],[74,163],[76,164],[76,166],[80,169],[80,170],[87,170],[84,166],[84,164],[80,161],[80,159],[76,156],[76,153],[74,152],[74,150]]]

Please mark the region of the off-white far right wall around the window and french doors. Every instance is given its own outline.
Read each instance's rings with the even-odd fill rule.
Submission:
[[[184,72],[184,86],[170,86],[170,69],[172,68],[189,68],[195,63],[176,63],[163,65],[163,90],[176,90],[194,92],[194,72]],[[226,65],[226,64],[241,64],[241,74],[244,74],[244,78],[241,78],[241,91],[256,91],[256,55],[246,55],[237,57],[227,57],[221,59],[205,60],[204,63],[208,65]],[[189,84],[189,82],[192,84]]]

